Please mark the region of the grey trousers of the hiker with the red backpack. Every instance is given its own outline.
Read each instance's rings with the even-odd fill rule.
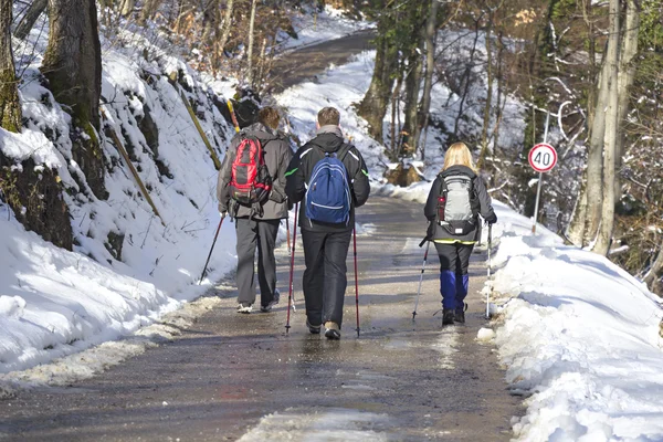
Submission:
[[[274,246],[281,220],[235,219],[238,235],[238,303],[255,302],[255,248],[257,245],[257,282],[260,302],[265,306],[274,299],[276,259]]]

